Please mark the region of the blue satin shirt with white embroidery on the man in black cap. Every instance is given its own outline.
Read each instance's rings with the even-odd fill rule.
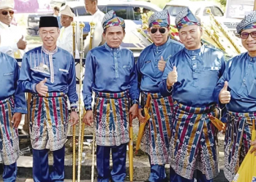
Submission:
[[[56,47],[49,52],[37,47],[23,56],[19,87],[24,92],[37,93],[36,85],[47,78],[48,92],[64,92],[69,97],[70,106],[77,106],[75,61],[66,50]]]

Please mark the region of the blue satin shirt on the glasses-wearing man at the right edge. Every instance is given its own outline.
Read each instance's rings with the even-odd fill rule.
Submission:
[[[214,98],[219,102],[219,92],[228,82],[230,103],[227,110],[233,112],[256,111],[256,57],[252,58],[248,52],[230,59],[227,68],[214,90]]]

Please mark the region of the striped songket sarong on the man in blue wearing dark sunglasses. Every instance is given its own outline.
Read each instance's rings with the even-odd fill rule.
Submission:
[[[146,103],[147,93],[141,95]],[[141,141],[141,149],[148,153],[151,165],[169,163],[170,122],[172,119],[173,99],[163,98],[159,93],[151,93],[148,114],[151,116],[146,124]]]

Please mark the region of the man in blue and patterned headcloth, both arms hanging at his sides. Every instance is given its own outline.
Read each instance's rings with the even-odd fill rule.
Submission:
[[[112,181],[126,177],[129,114],[138,114],[138,77],[132,52],[121,47],[124,39],[124,19],[111,10],[102,20],[106,43],[89,51],[83,80],[83,101],[86,124],[96,124],[98,181],[110,180],[110,150],[112,151]],[[95,92],[94,113],[91,94]],[[132,107],[129,106],[129,99]],[[132,123],[130,123],[132,124]]]

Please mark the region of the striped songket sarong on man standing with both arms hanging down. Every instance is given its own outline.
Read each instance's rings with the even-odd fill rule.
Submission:
[[[98,146],[120,146],[128,143],[128,92],[95,92],[94,123]]]

